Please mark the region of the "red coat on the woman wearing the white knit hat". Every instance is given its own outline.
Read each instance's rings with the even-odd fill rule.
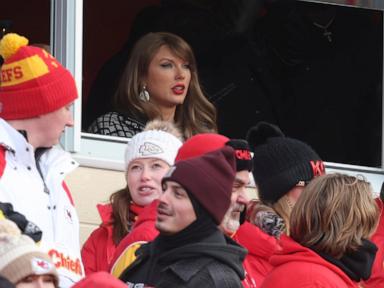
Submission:
[[[131,211],[138,215],[143,209],[135,204],[131,205]],[[112,206],[111,204],[97,205],[101,218],[101,225],[94,230],[81,249],[81,257],[84,263],[85,275],[97,271],[109,271],[110,263],[115,255],[116,245],[113,242]]]

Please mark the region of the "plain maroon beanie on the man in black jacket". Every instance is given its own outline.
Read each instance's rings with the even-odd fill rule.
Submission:
[[[199,157],[176,162],[162,182],[179,183],[219,225],[231,204],[235,163],[233,148],[225,146]]]

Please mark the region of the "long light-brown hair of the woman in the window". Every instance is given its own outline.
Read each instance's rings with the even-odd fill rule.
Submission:
[[[184,138],[204,132],[217,132],[216,108],[202,92],[192,48],[179,36],[167,32],[148,33],[136,42],[115,94],[115,108],[123,113],[128,110],[133,117],[139,119],[147,118],[143,120],[161,118],[156,105],[151,101],[141,101],[139,94],[151,60],[163,46],[190,66],[188,92],[184,103],[178,105],[175,112],[176,125],[183,132]]]

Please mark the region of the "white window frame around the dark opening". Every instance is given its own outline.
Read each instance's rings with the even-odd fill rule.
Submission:
[[[369,3],[361,1],[353,5],[346,4],[346,0],[299,1],[384,11],[384,1],[382,0]],[[66,129],[61,139],[61,145],[65,150],[71,152],[82,166],[122,171],[124,170],[124,150],[129,139],[81,132],[83,0],[51,0],[51,3],[52,51],[55,57],[72,72],[79,91],[79,99],[72,107],[75,125]],[[382,103],[381,121],[384,123],[384,101]],[[384,125],[382,125],[381,134],[384,135]],[[372,183],[374,191],[379,192],[384,181],[384,140],[382,140],[381,151],[381,168],[326,162],[327,171],[351,175],[362,174]]]

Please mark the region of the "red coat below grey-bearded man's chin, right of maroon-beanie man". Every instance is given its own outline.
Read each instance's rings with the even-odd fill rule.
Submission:
[[[264,278],[272,270],[269,258],[279,247],[276,238],[266,234],[257,226],[244,222],[233,239],[248,250],[243,262],[246,274],[243,286],[245,288],[260,287]]]

